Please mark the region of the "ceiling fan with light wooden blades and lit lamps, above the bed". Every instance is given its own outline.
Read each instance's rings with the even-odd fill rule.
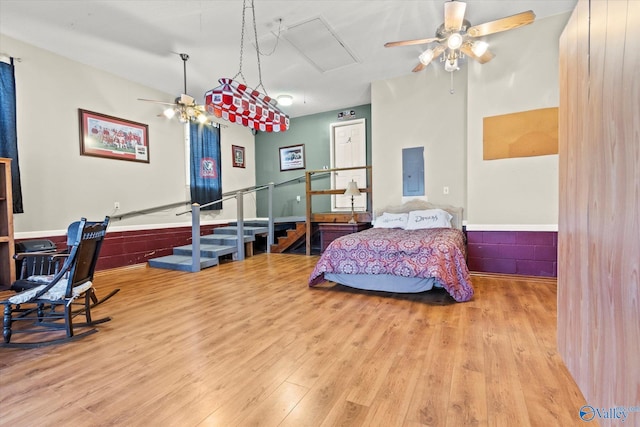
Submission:
[[[489,62],[495,56],[489,51],[489,45],[478,37],[499,33],[523,25],[531,24],[536,15],[533,11],[518,13],[512,16],[485,22],[484,24],[471,26],[469,21],[464,19],[467,4],[462,1],[448,1],[444,4],[444,23],[436,30],[436,36],[428,39],[402,40],[385,43],[385,47],[409,46],[416,44],[436,43],[418,56],[418,65],[413,68],[413,72],[423,70],[431,61],[440,57],[444,62],[446,71],[454,72],[459,69],[458,60],[464,55],[475,59],[481,64]]]

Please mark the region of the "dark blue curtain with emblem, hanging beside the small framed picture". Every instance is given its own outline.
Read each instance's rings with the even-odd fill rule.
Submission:
[[[189,124],[189,133],[191,141],[191,203],[204,205],[222,198],[220,129],[191,123]],[[220,210],[222,202],[204,209]]]

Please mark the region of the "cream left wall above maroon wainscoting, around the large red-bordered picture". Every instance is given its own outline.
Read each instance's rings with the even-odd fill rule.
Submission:
[[[157,117],[161,106],[137,98],[172,100],[166,94],[113,74],[0,35],[2,51],[15,64],[18,150],[24,201],[14,216],[16,237],[66,231],[85,216],[114,214],[189,200],[183,126]],[[114,55],[114,60],[117,56]],[[199,94],[194,94],[197,98]],[[149,125],[150,163],[80,155],[78,108]],[[233,168],[231,145],[245,147],[246,168]],[[223,191],[255,184],[254,137],[229,124],[221,130]],[[255,216],[253,195],[245,198],[245,217]],[[113,222],[111,230],[189,224],[172,209]],[[222,211],[203,213],[202,222],[235,218],[235,201]]]

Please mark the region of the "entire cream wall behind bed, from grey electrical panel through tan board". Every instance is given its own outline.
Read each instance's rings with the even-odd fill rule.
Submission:
[[[464,207],[468,229],[556,230],[558,156],[484,161],[482,119],[558,106],[558,39],[568,17],[488,37],[496,57],[462,65],[454,95],[438,62],[373,82],[374,209],[402,202],[402,149],[424,146],[426,198]]]

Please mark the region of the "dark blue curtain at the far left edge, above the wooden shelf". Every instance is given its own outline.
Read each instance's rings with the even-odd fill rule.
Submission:
[[[13,213],[23,213],[18,135],[16,130],[16,80],[11,63],[0,61],[0,157],[11,159]]]

